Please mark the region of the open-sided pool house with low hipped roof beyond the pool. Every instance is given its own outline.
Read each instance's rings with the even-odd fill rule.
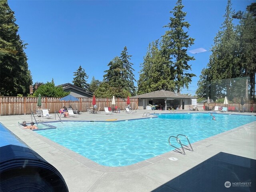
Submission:
[[[151,105],[157,105],[156,110],[180,109],[187,110],[196,102],[196,97],[174,93],[166,90],[158,90],[150,93],[136,95],[139,109],[151,109]]]

